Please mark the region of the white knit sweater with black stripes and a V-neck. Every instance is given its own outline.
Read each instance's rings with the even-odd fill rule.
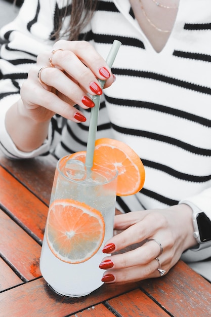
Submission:
[[[59,158],[86,149],[89,110],[84,110],[88,120],[81,124],[55,115],[48,140],[31,153],[15,147],[4,125],[5,112],[20,97],[37,54],[54,44],[54,13],[62,13],[64,2],[68,0],[25,0],[18,18],[1,30],[7,43],[0,60],[0,144],[9,157],[50,151]],[[173,31],[160,53],[140,29],[129,0],[99,1],[80,38],[104,58],[114,39],[122,43],[112,68],[116,82],[101,98],[97,137],[129,144],[142,159],[146,181],[138,194],[118,197],[118,207],[124,212],[165,208],[188,199],[211,218],[210,0],[180,0]]]

